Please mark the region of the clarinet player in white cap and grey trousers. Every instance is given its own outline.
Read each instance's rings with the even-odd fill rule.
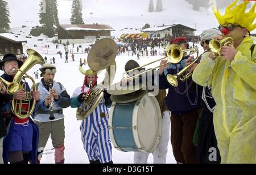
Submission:
[[[39,149],[38,154],[46,147],[51,135],[52,145],[55,148],[55,163],[64,164],[64,114],[63,109],[70,106],[70,97],[67,90],[60,82],[54,80],[56,67],[51,64],[43,64],[40,68],[42,80],[37,84],[40,91],[40,106],[35,112],[35,123],[39,127]],[[52,87],[50,89],[50,82]],[[51,91],[51,93],[49,93]],[[49,119],[50,105],[54,119]],[[41,154],[42,155],[42,154]],[[38,157],[40,159],[40,157]],[[40,160],[38,160],[40,163]]]

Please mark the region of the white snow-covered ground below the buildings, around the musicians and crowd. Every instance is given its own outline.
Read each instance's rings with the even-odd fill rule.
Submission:
[[[82,82],[84,81],[84,76],[79,72],[79,64],[80,64],[80,58],[82,60],[87,59],[88,54],[87,53],[81,53],[81,48],[79,50],[80,53],[77,52],[77,46],[81,45],[84,49],[85,47],[89,47],[90,44],[75,44],[75,47],[73,48],[72,45],[69,45],[69,49],[73,49],[73,52],[75,53],[75,61],[72,61],[71,54],[69,54],[69,60],[68,63],[65,63],[65,55],[64,55],[64,46],[59,44],[59,49],[56,49],[56,45],[53,44],[51,41],[52,39],[47,38],[44,35],[41,35],[39,37],[33,37],[26,38],[28,36],[30,31],[30,28],[25,27],[16,27],[11,30],[11,32],[14,32],[18,35],[19,39],[26,39],[28,42],[23,46],[23,52],[26,53],[27,48],[32,48],[38,51],[42,57],[47,57],[47,62],[49,63],[49,60],[52,57],[55,57],[56,67],[57,67],[57,73],[55,76],[55,80],[61,82],[61,84],[64,85],[64,87],[67,89],[69,95],[72,95],[73,90],[77,86],[81,86]],[[39,41],[38,39],[42,39],[42,41]],[[34,44],[38,45],[38,47],[34,47]],[[60,59],[60,55],[53,54],[53,55],[46,55],[43,54],[46,52],[45,45],[49,45],[49,51],[53,53],[57,53],[57,51],[61,51],[63,53],[63,59]],[[150,48],[148,48],[150,49]],[[159,53],[163,53],[163,48],[156,48],[156,50]],[[157,60],[159,58],[162,58],[162,55],[158,56],[141,56],[140,60],[137,60],[137,56],[128,56],[127,52],[125,55],[120,55],[115,58],[115,61],[117,62],[117,72],[115,73],[114,83],[119,82],[121,80],[122,76],[121,74],[125,72],[125,64],[128,60],[134,59],[136,60],[140,65],[143,65],[145,63],[148,63],[152,60]],[[153,66],[159,65],[159,62],[156,62],[155,64],[152,64],[151,66],[146,66],[146,69],[152,68]],[[40,68],[40,65],[35,65],[32,67],[28,74],[34,77],[35,70],[38,70]],[[89,69],[88,65],[84,66],[85,69]],[[0,70],[0,74],[3,72]],[[102,76],[104,76],[104,72],[101,73]],[[100,78],[100,79],[101,79]],[[99,79],[99,81],[101,81]],[[38,82],[39,79],[35,79],[36,82]],[[80,123],[81,121],[76,120],[76,109],[72,109],[71,107],[68,107],[68,109],[64,109],[64,115],[65,115],[65,163],[89,163],[88,157],[83,149],[81,136],[80,136]],[[52,149],[51,139],[48,140],[46,151],[42,158],[42,163],[54,163],[54,150]],[[133,152],[121,152],[117,149],[113,148],[113,161],[114,163],[127,163],[131,164],[133,163]],[[148,163],[153,163],[152,155],[148,158]],[[167,154],[167,163],[175,163],[174,156],[172,155],[172,147],[171,143],[168,145],[168,154]]]

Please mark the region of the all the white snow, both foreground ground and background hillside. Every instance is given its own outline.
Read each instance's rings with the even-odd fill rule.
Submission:
[[[55,57],[57,73],[55,80],[61,82],[67,89],[69,95],[72,95],[73,90],[76,87],[81,86],[84,81],[84,76],[79,72],[79,60],[87,58],[86,53],[81,53],[81,48],[79,53],[76,53],[77,46],[81,45],[82,48],[88,47],[92,43],[88,44],[75,44],[75,48],[69,45],[68,48],[73,50],[75,53],[75,61],[71,61],[71,54],[69,54],[69,62],[65,63],[64,59],[64,47],[59,44],[59,49],[55,48],[53,40],[56,38],[47,38],[45,35],[40,35],[38,37],[26,38],[30,34],[32,26],[37,26],[39,23],[38,18],[38,1],[34,0],[8,0],[10,15],[11,15],[11,30],[18,40],[27,40],[27,44],[23,45],[23,52],[26,53],[27,48],[32,48],[37,50],[42,57],[47,56],[48,63],[49,59]],[[201,34],[201,32],[207,28],[217,27],[217,20],[215,19],[211,10],[207,8],[201,8],[200,11],[193,11],[192,6],[189,5],[185,0],[175,1],[175,0],[163,0],[162,12],[147,12],[148,0],[83,0],[83,17],[86,24],[88,23],[98,23],[98,24],[108,24],[113,27],[115,31],[112,35],[115,38],[119,38],[123,33],[140,33],[141,28],[144,24],[148,23],[151,27],[162,26],[163,24],[170,25],[173,23],[180,23],[184,26],[191,28],[196,28],[196,35]],[[68,0],[58,0],[58,10],[59,10],[59,20],[60,24],[69,24],[69,18],[71,16],[71,5],[72,1]],[[29,7],[29,10],[28,10]],[[22,16],[22,17],[21,17]],[[20,26],[25,25],[22,28]],[[127,28],[127,29],[124,29]],[[80,29],[80,28],[79,28]],[[84,29],[83,29],[84,30]],[[254,32],[252,32],[254,33]],[[39,39],[42,39],[39,40]],[[38,47],[34,47],[34,44]],[[71,43],[72,44],[72,43]],[[53,55],[45,55],[46,45],[49,45],[48,53],[53,53]],[[200,45],[200,53],[203,52]],[[63,59],[60,59],[59,55],[56,55],[57,51],[63,53]],[[157,48],[158,53],[163,53],[162,48]],[[127,56],[121,55],[117,56],[115,61],[117,62],[117,73],[115,74],[114,82],[121,80],[121,74],[125,72],[125,63],[130,60],[136,60],[140,65],[150,62],[152,60],[157,60],[163,56],[144,56],[140,60],[137,60],[137,56]],[[159,65],[159,62],[152,64],[151,66],[146,66],[146,69],[152,68]],[[34,76],[35,70],[39,69],[40,65],[35,65],[28,74]],[[88,68],[86,66],[85,68]],[[0,71],[0,74],[3,72]],[[102,72],[103,74],[104,72]],[[101,75],[99,77],[102,77]],[[35,79],[36,82],[39,79]],[[99,80],[100,81],[100,80]],[[65,163],[89,163],[88,157],[83,149],[81,134],[80,134],[80,123],[81,121],[76,120],[76,109],[69,107],[64,109],[65,115]],[[51,139],[48,140],[45,154],[42,158],[42,163],[54,163],[54,150],[52,149]],[[113,161],[114,163],[120,164],[132,164],[133,163],[133,152],[121,152],[113,148]],[[153,163],[152,155],[148,158],[148,163]],[[171,143],[168,145],[167,153],[167,163],[176,163],[174,156],[172,154]]]

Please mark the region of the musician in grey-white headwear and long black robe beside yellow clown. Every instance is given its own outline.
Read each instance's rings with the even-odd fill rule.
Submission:
[[[201,60],[202,56],[210,54],[209,41],[216,35],[220,35],[220,31],[216,28],[209,28],[202,32],[200,38],[201,46],[204,48],[204,53],[199,56],[199,60]],[[187,63],[191,63],[191,59],[188,59]],[[194,64],[190,71],[194,70],[196,66],[197,64]],[[199,86],[199,91],[200,106],[203,111],[198,119],[198,130],[196,132],[198,140],[194,140],[197,144],[196,161],[199,164],[217,164],[220,163],[221,158],[213,127],[213,109],[216,103],[212,97],[211,86]],[[210,156],[212,151],[209,150],[213,148],[216,154],[212,157]]]

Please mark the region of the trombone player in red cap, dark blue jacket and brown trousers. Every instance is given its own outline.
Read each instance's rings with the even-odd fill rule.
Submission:
[[[172,40],[172,44],[180,45],[181,49],[187,49],[187,39],[178,37]],[[197,118],[200,114],[200,106],[197,102],[198,88],[192,78],[185,82],[178,80],[179,86],[171,86],[166,78],[168,73],[177,74],[185,67],[189,56],[184,56],[177,64],[160,66],[159,88],[168,89],[166,105],[171,111],[171,143],[177,163],[196,163],[196,147],[193,145],[193,134]],[[165,64],[167,60],[160,62]]]

